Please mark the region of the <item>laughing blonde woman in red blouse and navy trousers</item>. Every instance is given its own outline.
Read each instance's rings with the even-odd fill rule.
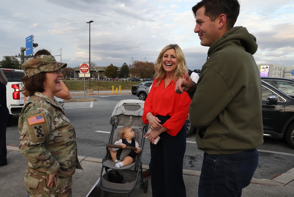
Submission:
[[[186,122],[191,99],[175,92],[176,81],[187,71],[185,56],[177,44],[164,47],[155,63],[155,79],[145,100],[143,122],[151,129],[152,196],[186,196],[183,158],[186,151]],[[155,138],[161,137],[157,144]]]

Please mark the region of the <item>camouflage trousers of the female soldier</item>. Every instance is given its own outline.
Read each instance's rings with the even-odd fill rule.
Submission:
[[[49,174],[40,172],[33,168],[27,168],[24,177],[26,190],[30,197],[71,197],[72,176],[61,177],[56,176],[57,185],[53,183],[53,187],[47,186]]]

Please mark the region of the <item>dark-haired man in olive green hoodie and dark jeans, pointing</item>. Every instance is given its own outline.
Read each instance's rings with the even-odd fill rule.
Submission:
[[[194,32],[209,47],[208,58],[197,84],[186,73],[176,92],[187,91],[192,99],[190,121],[204,151],[199,197],[241,196],[263,143],[261,80],[252,56],[256,38],[233,27],[239,10],[238,0],[203,0],[192,8]]]

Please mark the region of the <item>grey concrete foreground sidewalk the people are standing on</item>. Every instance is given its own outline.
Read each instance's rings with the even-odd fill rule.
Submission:
[[[78,156],[84,170],[76,170],[73,176],[72,193],[74,197],[85,197],[100,177],[102,168],[101,158]],[[21,155],[18,147],[7,146],[8,165],[0,167],[0,197],[26,197],[24,174],[26,172],[26,158]],[[148,165],[143,165],[144,169]],[[183,170],[183,177],[188,197],[197,197],[200,171]],[[294,168],[273,180],[252,179],[251,184],[243,189],[242,197],[270,197],[294,195]],[[148,192],[144,193],[139,184],[131,196],[151,197],[151,178],[148,178]],[[99,183],[89,194],[89,197],[101,195]],[[108,197],[124,196],[124,194],[108,193]]]

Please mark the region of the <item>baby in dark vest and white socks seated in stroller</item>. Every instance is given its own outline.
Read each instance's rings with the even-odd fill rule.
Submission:
[[[116,168],[120,168],[120,167],[130,165],[131,163],[133,163],[133,158],[135,158],[136,154],[140,153],[140,151],[141,151],[141,148],[140,148],[138,142],[133,140],[133,138],[135,137],[135,132],[133,131],[133,129],[130,126],[122,127],[119,130],[118,135],[121,139],[119,141],[116,141],[114,143],[114,145],[120,145],[123,148],[126,148],[126,146],[132,146],[132,147],[136,147],[137,150],[136,151],[131,150],[131,153],[128,156],[126,156],[123,159],[123,161],[120,161],[121,151],[123,149],[109,148],[111,158],[116,163],[115,164]]]

